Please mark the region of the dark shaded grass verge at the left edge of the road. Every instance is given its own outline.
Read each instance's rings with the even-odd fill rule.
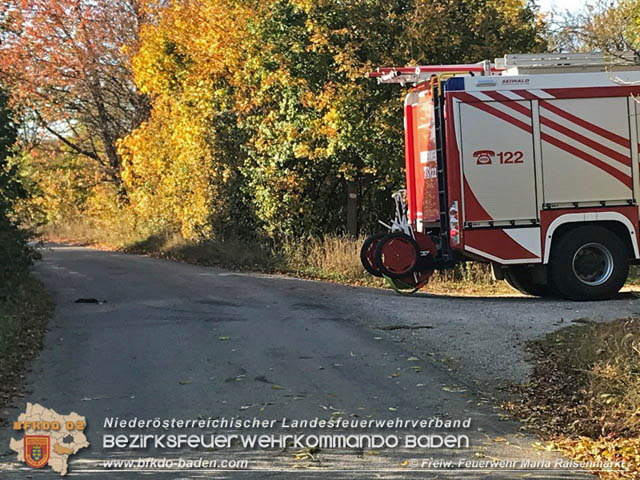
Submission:
[[[53,302],[42,284],[25,277],[0,299],[0,406],[21,396],[20,384],[42,349]]]

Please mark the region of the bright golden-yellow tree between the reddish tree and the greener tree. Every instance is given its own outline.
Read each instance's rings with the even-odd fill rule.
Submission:
[[[157,230],[210,237],[250,215],[237,203],[244,139],[231,78],[254,15],[252,2],[185,0],[142,29],[133,67],[153,111],[120,151],[132,208]]]

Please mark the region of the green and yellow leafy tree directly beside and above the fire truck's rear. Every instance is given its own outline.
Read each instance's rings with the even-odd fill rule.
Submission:
[[[269,235],[342,230],[349,184],[376,228],[403,183],[402,91],[381,65],[462,63],[543,48],[520,0],[335,0],[263,4],[247,41],[244,172]]]

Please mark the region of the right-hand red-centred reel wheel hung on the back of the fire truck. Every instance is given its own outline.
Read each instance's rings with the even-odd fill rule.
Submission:
[[[376,266],[389,278],[402,278],[415,270],[420,260],[420,247],[409,235],[401,232],[384,237],[375,253]]]

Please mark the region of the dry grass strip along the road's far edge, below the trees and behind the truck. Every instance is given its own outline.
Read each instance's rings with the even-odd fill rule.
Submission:
[[[279,273],[301,278],[348,285],[384,287],[360,264],[360,247],[365,237],[327,235],[262,244],[238,239],[190,242],[179,235],[132,235],[125,231],[105,231],[87,224],[49,226],[43,237],[62,243],[91,245],[127,253],[168,258],[196,265],[234,270]],[[514,295],[505,282],[494,281],[488,265],[461,264],[453,270],[436,272],[425,291],[435,294]]]

